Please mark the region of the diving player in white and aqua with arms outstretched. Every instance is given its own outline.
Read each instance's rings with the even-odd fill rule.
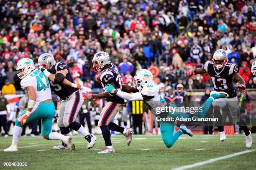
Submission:
[[[105,88],[106,91],[108,91],[110,94],[117,95],[126,100],[142,100],[151,111],[151,113],[155,116],[157,116],[157,108],[165,108],[167,106],[165,99],[160,94],[159,86],[153,81],[153,74],[146,69],[141,69],[136,73],[134,76],[133,87],[122,85],[123,91],[120,91],[115,89],[112,84],[108,84],[105,86]],[[130,92],[133,92],[133,94],[129,94]],[[223,92],[212,94],[210,98],[207,99],[207,101],[205,101],[205,103],[201,106],[202,112],[197,112],[198,117],[205,116],[214,99],[226,97],[227,95],[228,94]],[[172,107],[175,106],[172,104]],[[177,112],[174,112],[174,114],[171,112],[166,114],[168,114],[168,117],[186,117],[186,114],[180,114]],[[192,132],[188,130],[184,125],[181,125],[179,130],[173,134],[174,121],[160,121],[160,125],[162,139],[166,147],[172,147],[179,136],[183,133],[188,134],[189,136],[193,136]]]

